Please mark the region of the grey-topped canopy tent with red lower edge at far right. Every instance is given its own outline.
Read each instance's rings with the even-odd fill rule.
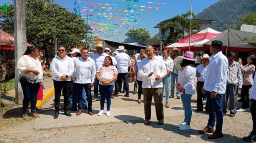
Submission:
[[[245,32],[234,29],[227,29],[213,40],[220,40],[223,43],[223,51],[234,51],[234,52],[256,52],[256,45],[253,41],[247,42],[244,41],[244,37],[249,37],[250,39],[256,36],[256,33]],[[203,45],[204,49],[209,49],[211,46],[211,41],[208,41]]]

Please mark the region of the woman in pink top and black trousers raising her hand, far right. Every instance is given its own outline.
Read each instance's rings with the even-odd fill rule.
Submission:
[[[238,112],[243,112],[249,110],[249,89],[252,87],[253,74],[255,71],[256,57],[249,56],[247,58],[247,65],[242,65],[242,59],[238,59],[241,70],[243,72],[243,85],[241,90],[241,101],[243,102],[241,109],[236,110]]]

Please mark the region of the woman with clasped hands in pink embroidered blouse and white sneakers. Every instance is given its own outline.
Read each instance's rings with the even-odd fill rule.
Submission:
[[[107,100],[107,112],[106,115],[110,116],[110,104],[111,95],[113,92],[113,87],[115,84],[115,79],[117,79],[117,69],[113,65],[113,61],[110,56],[106,56],[104,59],[104,64],[100,65],[97,70],[96,77],[99,80],[99,90],[100,90],[100,111],[98,116],[104,113],[104,102]]]

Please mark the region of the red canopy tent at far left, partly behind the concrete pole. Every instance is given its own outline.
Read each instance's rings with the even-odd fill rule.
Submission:
[[[0,50],[14,50],[14,36],[0,29]],[[27,46],[33,46],[27,43]]]

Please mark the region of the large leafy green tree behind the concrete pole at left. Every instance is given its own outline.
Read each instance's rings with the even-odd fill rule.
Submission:
[[[0,10],[0,29],[14,34],[13,5],[8,6],[8,13]],[[80,46],[80,39],[85,39],[90,33],[90,26],[83,19],[77,18],[76,13],[69,12],[62,7],[47,0],[47,8],[43,10],[42,0],[26,0],[27,41],[40,48],[46,48],[50,55],[54,52],[54,37],[58,45],[72,48]]]

